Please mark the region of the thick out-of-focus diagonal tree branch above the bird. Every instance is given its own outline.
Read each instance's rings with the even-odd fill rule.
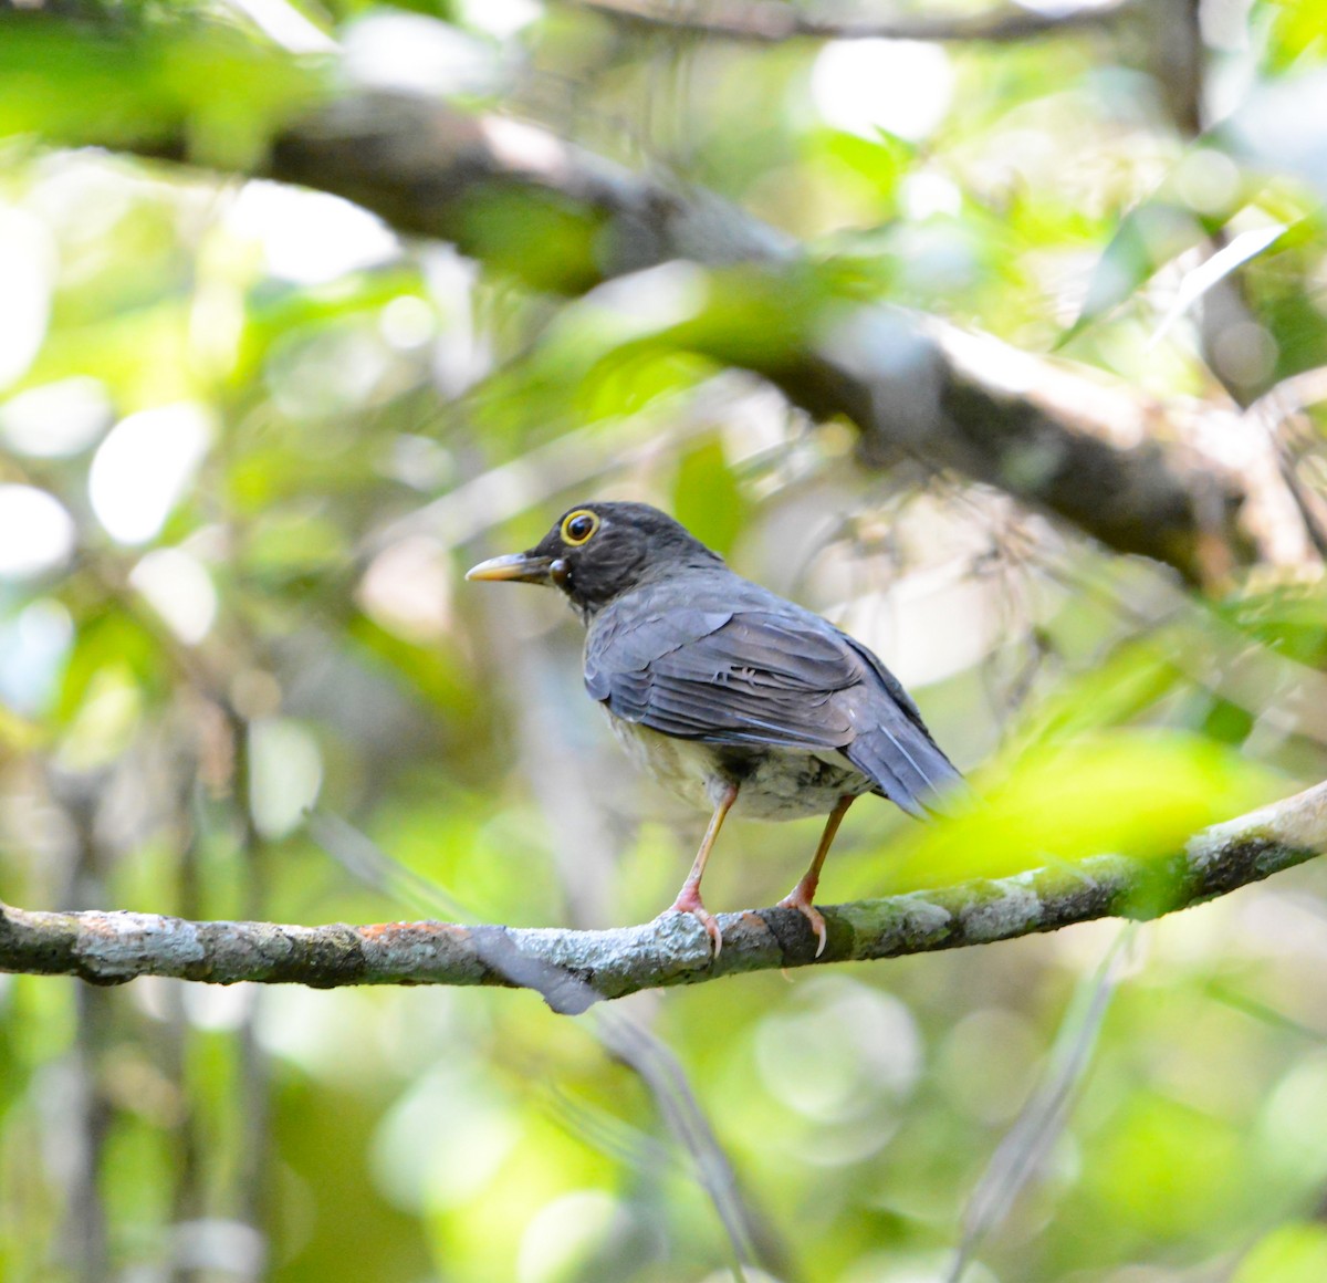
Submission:
[[[135,60],[145,74],[157,65],[142,41],[117,45],[117,57],[123,84],[134,82]],[[5,58],[0,38],[0,78]],[[42,66],[20,69],[29,80],[56,74]],[[137,139],[123,137],[129,127],[113,130],[94,113],[77,127],[62,121],[58,141],[190,154],[187,119],[153,115]],[[750,369],[817,418],[852,421],[869,463],[906,454],[953,468],[1194,584],[1253,563],[1312,559],[1275,467],[1222,456],[1229,434],[1212,431],[1220,409],[1196,414],[1189,402],[1158,402],[1097,371],[863,303],[795,240],[714,194],[632,172],[537,126],[415,94],[330,97],[324,85],[321,103],[279,130],[249,171],[354,200],[536,289],[575,295],[675,259],[703,264],[717,272],[717,326],[679,326],[661,340]],[[730,291],[742,300],[740,333],[731,316],[723,330]],[[1051,385],[1055,394],[1043,395]],[[1250,439],[1239,434],[1242,448]],[[1299,533],[1270,537],[1273,511],[1282,535],[1286,521]]]

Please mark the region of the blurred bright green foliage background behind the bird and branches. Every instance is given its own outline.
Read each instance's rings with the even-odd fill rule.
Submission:
[[[856,807],[828,900],[1164,857],[1327,775],[1320,577],[1196,600],[961,478],[868,471],[849,426],[727,369],[888,300],[1213,413],[1285,395],[1271,430],[1320,495],[1322,393],[1282,386],[1324,350],[1314,0],[1202,7],[1198,137],[1161,57],[1193,32],[1140,13],[941,46],[645,34],[535,0],[17,8],[5,900],[657,913],[705,817],[604,734],[553,594],[460,584],[591,496],[670,508],[851,628],[971,772],[926,829]],[[471,207],[476,265],[165,163],[260,167],[312,105],[402,82],[709,187],[808,253],[555,297],[600,261],[556,203]],[[1223,289],[1241,310],[1212,333]],[[771,902],[815,837],[731,825],[710,904]],[[1072,1000],[1112,923],[638,995],[612,1014],[630,1036],[529,994],[4,978],[0,1276],[674,1283],[747,1254],[747,1279],[932,1283],[1063,1027],[1071,1108],[965,1283],[1319,1283],[1324,892],[1308,866],[1141,929],[1091,1028]]]

